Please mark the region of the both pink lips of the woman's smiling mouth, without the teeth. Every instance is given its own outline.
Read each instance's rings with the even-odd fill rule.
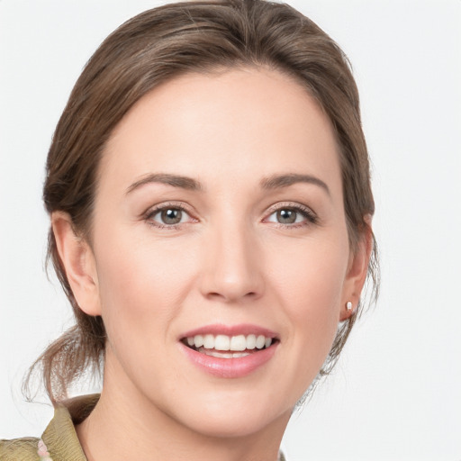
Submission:
[[[276,333],[265,328],[251,324],[240,325],[207,325],[195,330],[190,330],[184,333],[180,339],[190,338],[195,335],[264,335],[267,338],[276,338]],[[185,353],[185,356],[200,369],[211,375],[221,378],[240,378],[250,375],[260,366],[265,365],[275,354],[279,341],[274,342],[269,348],[255,349],[246,357],[222,358],[207,356],[197,352],[193,348],[188,348],[183,342],[179,341],[179,346]]]

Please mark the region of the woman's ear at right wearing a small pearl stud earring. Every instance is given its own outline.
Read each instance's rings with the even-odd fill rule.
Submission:
[[[339,312],[339,321],[346,321],[357,310],[360,294],[365,285],[366,274],[368,272],[368,263],[373,250],[373,233],[371,230],[371,216],[366,216],[366,226],[361,233],[360,240],[357,243],[357,249],[351,251],[348,273],[344,282],[341,310]],[[348,302],[352,303],[352,308],[348,309]]]

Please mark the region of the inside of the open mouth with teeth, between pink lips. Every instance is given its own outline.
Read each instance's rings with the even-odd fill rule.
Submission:
[[[181,339],[181,342],[200,354],[217,358],[241,358],[258,354],[276,345],[278,339],[263,334],[235,335],[197,334]]]

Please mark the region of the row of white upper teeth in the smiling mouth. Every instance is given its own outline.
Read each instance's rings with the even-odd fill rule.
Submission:
[[[264,335],[195,335],[187,338],[187,344],[195,348],[241,351],[268,348],[272,344],[272,338]]]

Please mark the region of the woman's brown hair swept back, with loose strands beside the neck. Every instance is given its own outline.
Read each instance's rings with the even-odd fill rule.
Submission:
[[[91,241],[97,171],[104,146],[131,106],[155,86],[185,72],[240,66],[275,68],[295,77],[328,114],[340,148],[344,207],[352,249],[374,212],[357,86],[348,59],[312,21],[288,5],[264,0],[195,1],[139,14],[113,32],[78,78],[56,128],[43,189],[48,212],[67,212]],[[43,352],[41,366],[52,402],[86,370],[101,369],[105,330],[101,317],[82,312],[59,259],[52,230],[48,256],[77,324]],[[375,282],[375,241],[368,276]],[[360,312],[357,310],[357,312]],[[340,324],[320,375],[336,363],[357,317]],[[30,375],[29,375],[30,377]]]

